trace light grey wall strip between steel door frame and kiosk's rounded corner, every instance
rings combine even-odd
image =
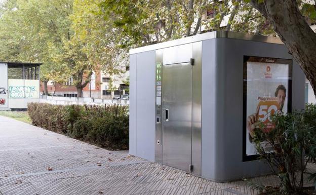
[[[202,42],[202,177],[216,178],[216,39]]]

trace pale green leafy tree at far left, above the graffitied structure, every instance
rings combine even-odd
[[[51,45],[62,46],[69,35],[72,0],[7,0],[0,8],[0,60],[43,62],[41,80],[47,89],[56,64]],[[47,90],[45,90],[47,94]]]

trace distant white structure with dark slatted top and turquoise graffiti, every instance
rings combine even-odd
[[[0,62],[0,110],[25,110],[39,101],[41,63]]]

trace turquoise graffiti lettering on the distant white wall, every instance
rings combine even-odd
[[[35,86],[9,86],[10,98],[33,98],[38,97]]]

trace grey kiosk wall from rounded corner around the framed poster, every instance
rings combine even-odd
[[[292,59],[284,45],[226,38],[203,42],[202,176],[215,181],[269,172],[263,162],[243,162],[244,55]],[[304,77],[296,66],[293,94],[304,90]],[[292,102],[301,107],[304,97],[293,96]]]

